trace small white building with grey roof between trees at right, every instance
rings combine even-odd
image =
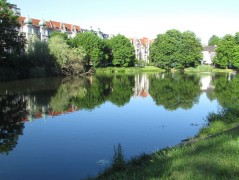
[[[206,46],[203,48],[203,60],[202,64],[212,65],[213,64],[213,58],[216,55],[216,46]]]

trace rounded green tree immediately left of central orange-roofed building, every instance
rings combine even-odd
[[[109,41],[113,53],[113,65],[121,67],[134,66],[135,51],[130,40],[123,35],[117,35]]]

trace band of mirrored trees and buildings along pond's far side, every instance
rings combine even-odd
[[[137,74],[0,83],[0,153],[15,148],[26,121],[93,110],[105,102],[120,107],[137,96],[151,96],[157,106],[168,110],[186,110],[204,92],[223,107],[237,107],[239,78],[235,74]]]

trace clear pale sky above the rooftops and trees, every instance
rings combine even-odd
[[[239,32],[239,0],[7,0],[22,16],[100,28],[109,34],[155,38],[190,30],[202,43]]]

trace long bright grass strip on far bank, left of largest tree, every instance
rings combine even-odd
[[[144,67],[106,67],[106,68],[97,68],[97,74],[110,74],[110,73],[140,73],[140,72],[164,72],[163,69],[160,69],[155,66],[144,66]]]

